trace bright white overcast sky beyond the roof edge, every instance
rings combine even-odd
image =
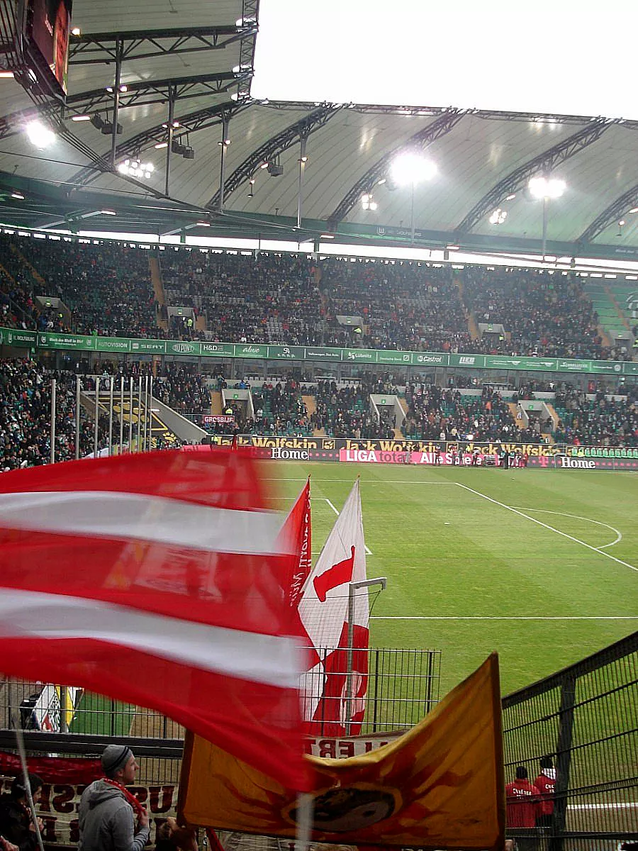
[[[252,94],[638,119],[638,0],[261,0]]]

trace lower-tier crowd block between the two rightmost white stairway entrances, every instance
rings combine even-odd
[[[500,393],[485,385],[481,396],[436,384],[408,384],[406,437],[417,440],[522,441],[539,443],[536,431],[520,431]]]

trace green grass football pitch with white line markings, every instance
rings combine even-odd
[[[638,628],[638,475],[265,466],[283,510],[309,474],[315,553],[361,477],[371,643],[441,649],[441,696],[492,650],[508,694]]]

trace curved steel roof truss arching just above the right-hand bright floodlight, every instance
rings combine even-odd
[[[608,121],[607,118],[595,118],[567,139],[558,142],[533,159],[527,160],[527,163],[515,168],[510,174],[506,174],[471,208],[464,220],[457,226],[456,232],[470,233],[481,219],[498,208],[508,195],[521,191],[530,178],[536,177],[538,174],[550,174],[561,163],[592,145],[601,138],[607,128],[612,126],[612,123],[615,122]]]

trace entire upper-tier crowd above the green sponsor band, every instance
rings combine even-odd
[[[632,353],[602,346],[597,314],[571,273],[197,248],[159,256],[167,304],[186,308],[182,316],[168,317],[155,300],[145,249],[2,235],[3,323],[288,346],[618,360]],[[37,295],[60,298],[70,319],[44,309]],[[199,317],[205,331],[197,330]],[[476,337],[475,322],[504,331]]]

